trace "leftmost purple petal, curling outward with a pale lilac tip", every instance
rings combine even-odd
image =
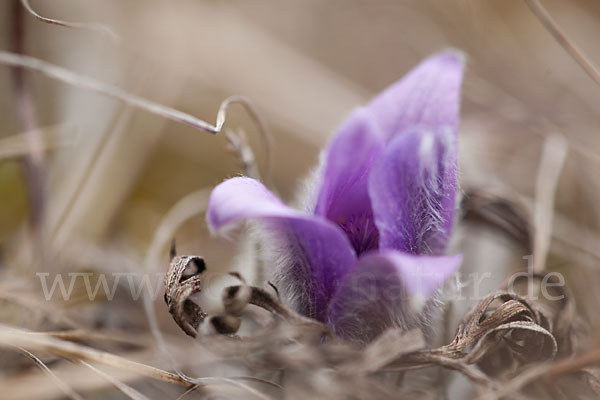
[[[232,178],[213,190],[207,210],[212,230],[248,219],[267,223],[265,245],[279,256],[274,275],[282,282],[280,291],[294,296],[298,311],[323,321],[331,295],[356,261],[344,233],[287,207],[254,179]]]

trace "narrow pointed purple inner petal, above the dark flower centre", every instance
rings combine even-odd
[[[315,214],[338,224],[357,254],[376,249],[378,244],[368,176],[373,161],[382,152],[383,140],[364,108],[352,113],[326,152]]]

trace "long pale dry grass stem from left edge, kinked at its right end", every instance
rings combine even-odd
[[[221,128],[225,123],[225,112],[227,110],[227,107],[232,103],[240,102],[237,96],[231,99],[226,99],[223,102],[221,108],[219,109],[216,125],[211,125],[190,114],[186,114],[174,108],[167,107],[162,104],[158,104],[153,101],[147,100],[145,98],[132,95],[116,86],[112,86],[107,83],[98,81],[96,79],[76,74],[72,71],[69,71],[66,68],[59,67],[57,65],[51,64],[49,62],[34,57],[22,56],[7,51],[0,51],[0,63],[12,67],[27,68],[40,72],[50,78],[83,89],[88,89],[97,93],[101,93],[103,95],[112,97],[114,99],[122,101],[131,106],[137,107],[149,113],[160,115],[172,121],[186,124],[196,129],[200,129],[202,131],[209,132],[212,134],[216,134],[221,131]]]

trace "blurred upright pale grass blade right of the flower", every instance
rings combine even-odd
[[[544,142],[535,185],[533,270],[538,273],[546,266],[546,257],[552,240],[554,198],[560,173],[567,158],[567,150],[567,141],[561,135],[548,136]]]

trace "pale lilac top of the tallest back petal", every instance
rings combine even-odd
[[[463,57],[455,51],[435,54],[369,104],[387,140],[413,126],[458,129]]]

